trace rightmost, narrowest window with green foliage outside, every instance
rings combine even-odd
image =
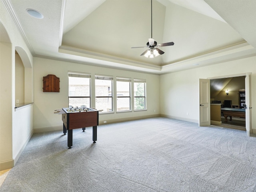
[[[146,80],[134,79],[134,110],[146,109]]]

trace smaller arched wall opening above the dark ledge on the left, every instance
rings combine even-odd
[[[15,51],[15,103],[16,105],[24,103],[24,64],[20,55]]]

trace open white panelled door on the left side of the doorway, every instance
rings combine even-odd
[[[199,79],[199,126],[210,124],[210,79]]]

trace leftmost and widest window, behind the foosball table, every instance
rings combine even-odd
[[[68,106],[90,107],[90,74],[68,73]]]

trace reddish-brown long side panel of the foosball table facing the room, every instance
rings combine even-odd
[[[69,113],[69,129],[98,125],[98,111]]]

